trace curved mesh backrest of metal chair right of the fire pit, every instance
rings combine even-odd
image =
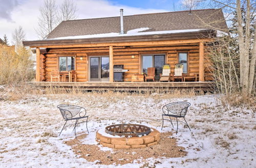
[[[189,106],[189,102],[174,102],[164,105],[162,109],[165,115],[173,113],[175,115],[185,116],[187,114],[187,109]]]

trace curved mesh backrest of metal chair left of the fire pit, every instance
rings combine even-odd
[[[74,117],[84,117],[86,116],[86,109],[76,105],[60,104],[57,105],[60,113],[64,120],[72,119]],[[79,116],[77,116],[79,115]]]

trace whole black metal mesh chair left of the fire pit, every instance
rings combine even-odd
[[[87,128],[88,116],[86,116],[85,108],[79,107],[76,105],[68,105],[68,104],[60,104],[60,105],[57,105],[57,107],[59,108],[63,119],[66,121],[63,128],[61,129],[59,135],[61,134],[62,130],[65,128],[67,121],[69,121],[69,120],[76,120],[74,129],[73,129],[73,131],[75,130],[75,135],[76,135],[76,126],[77,126],[77,124],[80,124],[80,123],[86,122],[86,129],[88,131],[88,128]],[[82,122],[78,123],[78,120],[83,119],[83,118],[86,118],[86,121],[82,121]],[[73,125],[73,124],[70,124],[70,125]],[[67,126],[69,126],[69,125],[67,125]],[[89,133],[89,131],[88,131],[88,133]]]

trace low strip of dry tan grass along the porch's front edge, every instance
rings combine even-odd
[[[113,98],[125,98],[127,96],[133,97],[152,97],[154,99],[165,99],[165,98],[183,98],[201,95],[202,92],[193,89],[148,89],[148,90],[136,90],[136,91],[113,91],[113,90],[97,90],[88,91],[80,87],[46,87],[40,88],[32,86],[26,82],[19,83],[18,85],[8,85],[4,89],[0,89],[2,99],[16,101],[19,99],[26,99],[31,95],[50,95],[50,96],[83,96],[83,97],[103,97],[107,100],[113,100]],[[5,96],[4,96],[5,95]]]

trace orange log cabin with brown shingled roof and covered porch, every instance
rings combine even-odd
[[[221,9],[148,13],[62,21],[44,40],[24,41],[36,48],[38,86],[83,87],[205,87],[211,80],[205,43],[227,25]],[[183,64],[193,81],[159,82],[162,67]],[[115,65],[123,65],[123,82],[114,78]],[[117,66],[118,67],[118,66]],[[155,67],[155,82],[138,77]],[[76,82],[51,81],[51,72],[76,71]],[[137,80],[142,82],[136,82]]]

